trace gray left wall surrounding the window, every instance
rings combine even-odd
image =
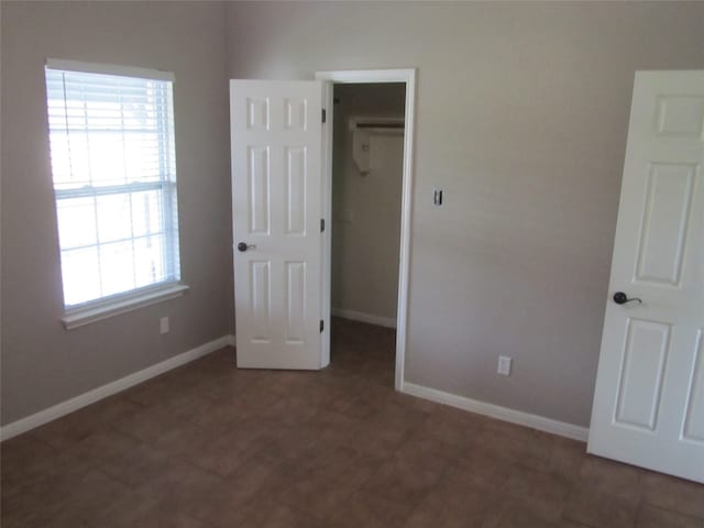
[[[2,424],[232,331],[224,8],[2,2]],[[65,331],[45,57],[174,72],[184,297]],[[170,317],[160,336],[158,318]]]

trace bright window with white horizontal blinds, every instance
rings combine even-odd
[[[178,285],[172,85],[157,70],[47,62],[67,316],[161,300]]]

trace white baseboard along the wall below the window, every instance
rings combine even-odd
[[[74,410],[78,410],[81,407],[95,404],[100,399],[107,398],[108,396],[112,396],[113,394],[120,393],[152,377],[158,376],[160,374],[170,371],[172,369],[185,365],[186,363],[197,360],[198,358],[202,358],[204,355],[208,355],[216,350],[220,350],[223,346],[233,344],[234,336],[223,336],[222,338],[218,338],[213,341],[201,344],[200,346],[196,346],[195,349],[169,358],[168,360],[162,361],[161,363],[147,366],[142,371],[135,372],[114,382],[110,382],[107,385],[94,388],[92,391],[88,391],[87,393],[67,399],[66,402],[62,402],[61,404],[56,404],[47,409],[40,410],[34,415],[21,418],[16,421],[13,421],[12,424],[8,424],[7,426],[2,427],[2,429],[0,429],[0,441],[16,437],[18,435],[22,435],[23,432],[43,426],[44,424],[61,418],[62,416],[68,415]]]

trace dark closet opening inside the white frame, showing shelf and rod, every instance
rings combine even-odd
[[[362,369],[365,377],[389,386],[405,99],[403,82],[333,86],[330,361]]]

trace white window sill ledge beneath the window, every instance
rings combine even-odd
[[[100,306],[94,305],[90,307],[70,310],[62,317],[62,322],[66,330],[73,330],[74,328],[119,316],[120,314],[127,314],[128,311],[136,310],[138,308],[180,297],[187,290],[188,286],[185,284],[169,284],[168,286],[164,286],[156,290],[153,289],[147,293],[136,294],[133,297],[113,300]]]

